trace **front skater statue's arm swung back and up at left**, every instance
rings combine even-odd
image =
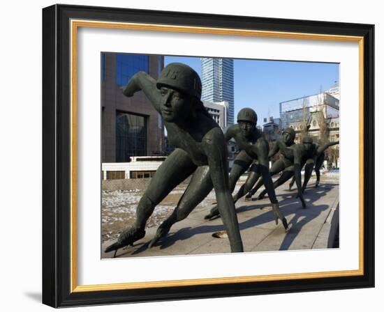
[[[146,72],[135,73],[123,89],[124,95],[128,98],[131,98],[138,91],[143,91],[149,101],[152,102],[154,109],[160,112],[161,93],[156,88],[156,80]]]

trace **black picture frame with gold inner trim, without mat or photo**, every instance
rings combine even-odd
[[[142,283],[77,283],[77,30],[357,42],[359,267]],[[229,40],[229,39],[228,39]],[[97,194],[95,194],[97,196]],[[374,25],[54,5],[43,9],[43,303],[53,307],[374,287]]]

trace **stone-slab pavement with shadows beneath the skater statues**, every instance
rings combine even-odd
[[[237,218],[244,244],[244,251],[276,251],[297,249],[323,249],[333,246],[339,225],[339,185],[320,182],[313,187],[310,180],[304,198],[307,209],[303,209],[295,198],[296,190],[288,191],[288,184],[276,189],[281,212],[286,216],[289,230],[286,232],[279,221],[276,226],[269,199],[236,203]],[[170,229],[156,246],[147,248],[147,243],[156,233],[156,227],[147,228],[142,240],[133,247],[119,249],[117,257],[175,256],[202,253],[230,252],[228,238],[216,238],[212,234],[223,231],[220,218],[204,219],[207,210],[192,212],[189,217]],[[105,247],[114,241],[105,242]],[[102,253],[102,258],[112,258],[113,252]]]

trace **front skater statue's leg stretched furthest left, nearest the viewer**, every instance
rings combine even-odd
[[[189,155],[179,148],[169,155],[163,164],[158,167],[147,190],[136,208],[135,224],[126,228],[119,235],[117,242],[105,249],[105,252],[114,251],[121,247],[133,244],[136,240],[145,236],[145,224],[151,216],[154,208],[174,189],[180,182],[188,178],[196,165],[193,164]]]

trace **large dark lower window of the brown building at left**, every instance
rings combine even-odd
[[[147,122],[144,116],[116,114],[116,162],[129,162],[132,156],[147,155]]]

